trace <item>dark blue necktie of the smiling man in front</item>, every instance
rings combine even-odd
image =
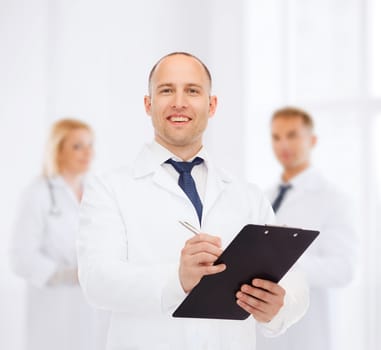
[[[180,174],[178,184],[195,207],[200,224],[202,217],[202,203],[200,196],[197,193],[196,184],[191,175],[191,171],[195,165],[201,164],[203,161],[204,160],[199,157],[196,157],[191,162],[176,162],[173,159],[168,159],[166,161],[166,163],[171,164]]]

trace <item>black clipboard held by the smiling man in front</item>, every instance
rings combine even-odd
[[[246,225],[214,263],[225,271],[204,276],[173,317],[244,320],[249,313],[236,303],[236,292],[253,278],[278,283],[319,235],[300,228]]]

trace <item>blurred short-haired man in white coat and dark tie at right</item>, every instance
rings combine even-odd
[[[269,193],[277,223],[320,231],[319,238],[299,260],[310,285],[310,308],[289,332],[267,339],[264,350],[330,350],[332,337],[329,289],[347,285],[355,263],[355,235],[350,203],[311,166],[317,137],[311,116],[285,107],[273,114],[272,144],[283,167],[280,182]],[[335,150],[332,150],[334,152]]]

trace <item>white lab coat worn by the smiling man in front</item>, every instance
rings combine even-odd
[[[81,208],[79,276],[96,307],[111,310],[109,350],[255,349],[255,321],[176,319],[185,294],[178,278],[180,251],[196,225],[191,202],[145,147],[131,168],[89,181]],[[255,186],[232,179],[206,161],[202,231],[226,246],[247,223],[272,222],[268,201]],[[308,305],[308,287],[296,273],[284,278],[286,304],[264,332],[277,334]]]

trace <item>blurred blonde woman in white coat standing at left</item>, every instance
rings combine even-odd
[[[78,284],[75,249],[83,181],[92,158],[90,126],[74,119],[57,121],[44,174],[21,199],[11,261],[28,285],[28,350],[104,348],[105,327],[99,326],[99,315]]]

